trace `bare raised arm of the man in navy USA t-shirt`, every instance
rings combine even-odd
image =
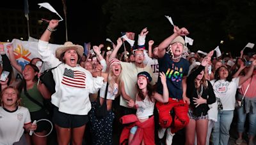
[[[173,39],[177,38],[177,36],[186,36],[188,34],[189,34],[189,32],[186,28],[183,27],[183,28],[179,29],[179,27],[174,26],[173,34],[171,36],[169,36],[168,38],[164,39],[164,41],[159,44],[158,57],[162,58],[164,56],[164,54],[166,53],[165,49],[168,48],[168,46],[171,44]]]

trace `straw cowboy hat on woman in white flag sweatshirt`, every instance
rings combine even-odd
[[[64,43],[63,46],[60,46],[59,48],[56,49],[56,52],[55,52],[56,57],[57,57],[58,59],[61,59],[61,54],[62,54],[63,52],[66,52],[67,50],[70,50],[70,49],[76,50],[77,55],[78,55],[80,58],[83,56],[83,53],[84,53],[84,48],[83,48],[83,46],[81,46],[81,45],[74,45],[72,42],[67,41],[67,42]]]

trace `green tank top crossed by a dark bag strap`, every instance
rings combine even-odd
[[[41,93],[38,91],[37,89],[37,84],[35,83],[35,85],[33,86],[33,88],[28,89],[27,90],[29,95],[37,100],[38,102],[40,102],[40,104],[44,105],[44,98],[41,95]],[[22,92],[20,93],[20,97],[21,97],[21,105],[24,107],[27,107],[29,112],[35,112],[35,111],[39,111],[40,109],[42,109],[42,107],[38,106],[37,104],[35,104],[35,102],[33,102],[32,100],[30,100],[25,94],[24,94],[24,89],[22,89]]]

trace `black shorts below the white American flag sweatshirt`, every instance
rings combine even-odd
[[[53,108],[52,121],[59,127],[62,127],[62,128],[82,127],[88,122],[88,120],[89,119],[87,115],[61,113],[58,107],[54,106]]]

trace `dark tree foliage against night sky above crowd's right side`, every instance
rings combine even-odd
[[[102,10],[111,17],[107,34],[116,39],[120,32],[139,34],[148,27],[147,40],[154,39],[156,45],[173,32],[173,26],[164,17],[172,17],[173,23],[186,27],[193,38],[190,50],[212,50],[221,45],[221,51],[237,52],[248,43],[255,43],[256,3],[253,0],[109,0]]]

